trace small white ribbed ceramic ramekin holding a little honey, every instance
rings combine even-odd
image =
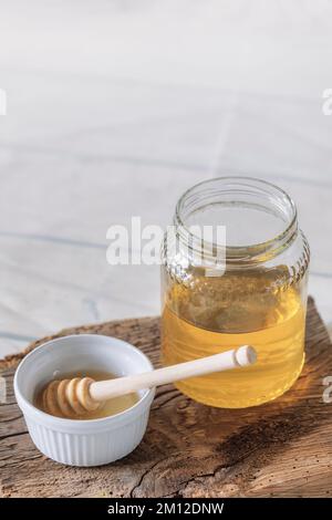
[[[33,405],[35,393],[61,373],[100,370],[122,376],[149,372],[149,360],[129,343],[96,334],[79,334],[50,341],[20,363],[14,393],[37,448],[70,466],[100,466],[128,455],[141,443],[155,389],[138,392],[139,401],[126,410],[91,420],[54,417]]]

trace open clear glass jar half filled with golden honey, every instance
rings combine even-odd
[[[304,363],[309,258],[294,202],[282,189],[224,177],[184,194],[163,247],[163,363],[245,344],[258,360],[178,382],[180,392],[207,405],[242,408],[292,386]]]

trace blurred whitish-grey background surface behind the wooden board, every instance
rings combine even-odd
[[[328,0],[0,0],[0,356],[157,314],[158,269],[107,266],[106,230],[217,175],[292,195],[331,322],[331,25]]]

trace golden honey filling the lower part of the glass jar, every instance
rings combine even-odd
[[[259,405],[283,394],[304,362],[305,308],[301,282],[289,285],[284,269],[191,277],[189,287],[165,273],[163,361],[176,364],[252,345],[255,366],[176,383],[194,399],[218,407]]]

